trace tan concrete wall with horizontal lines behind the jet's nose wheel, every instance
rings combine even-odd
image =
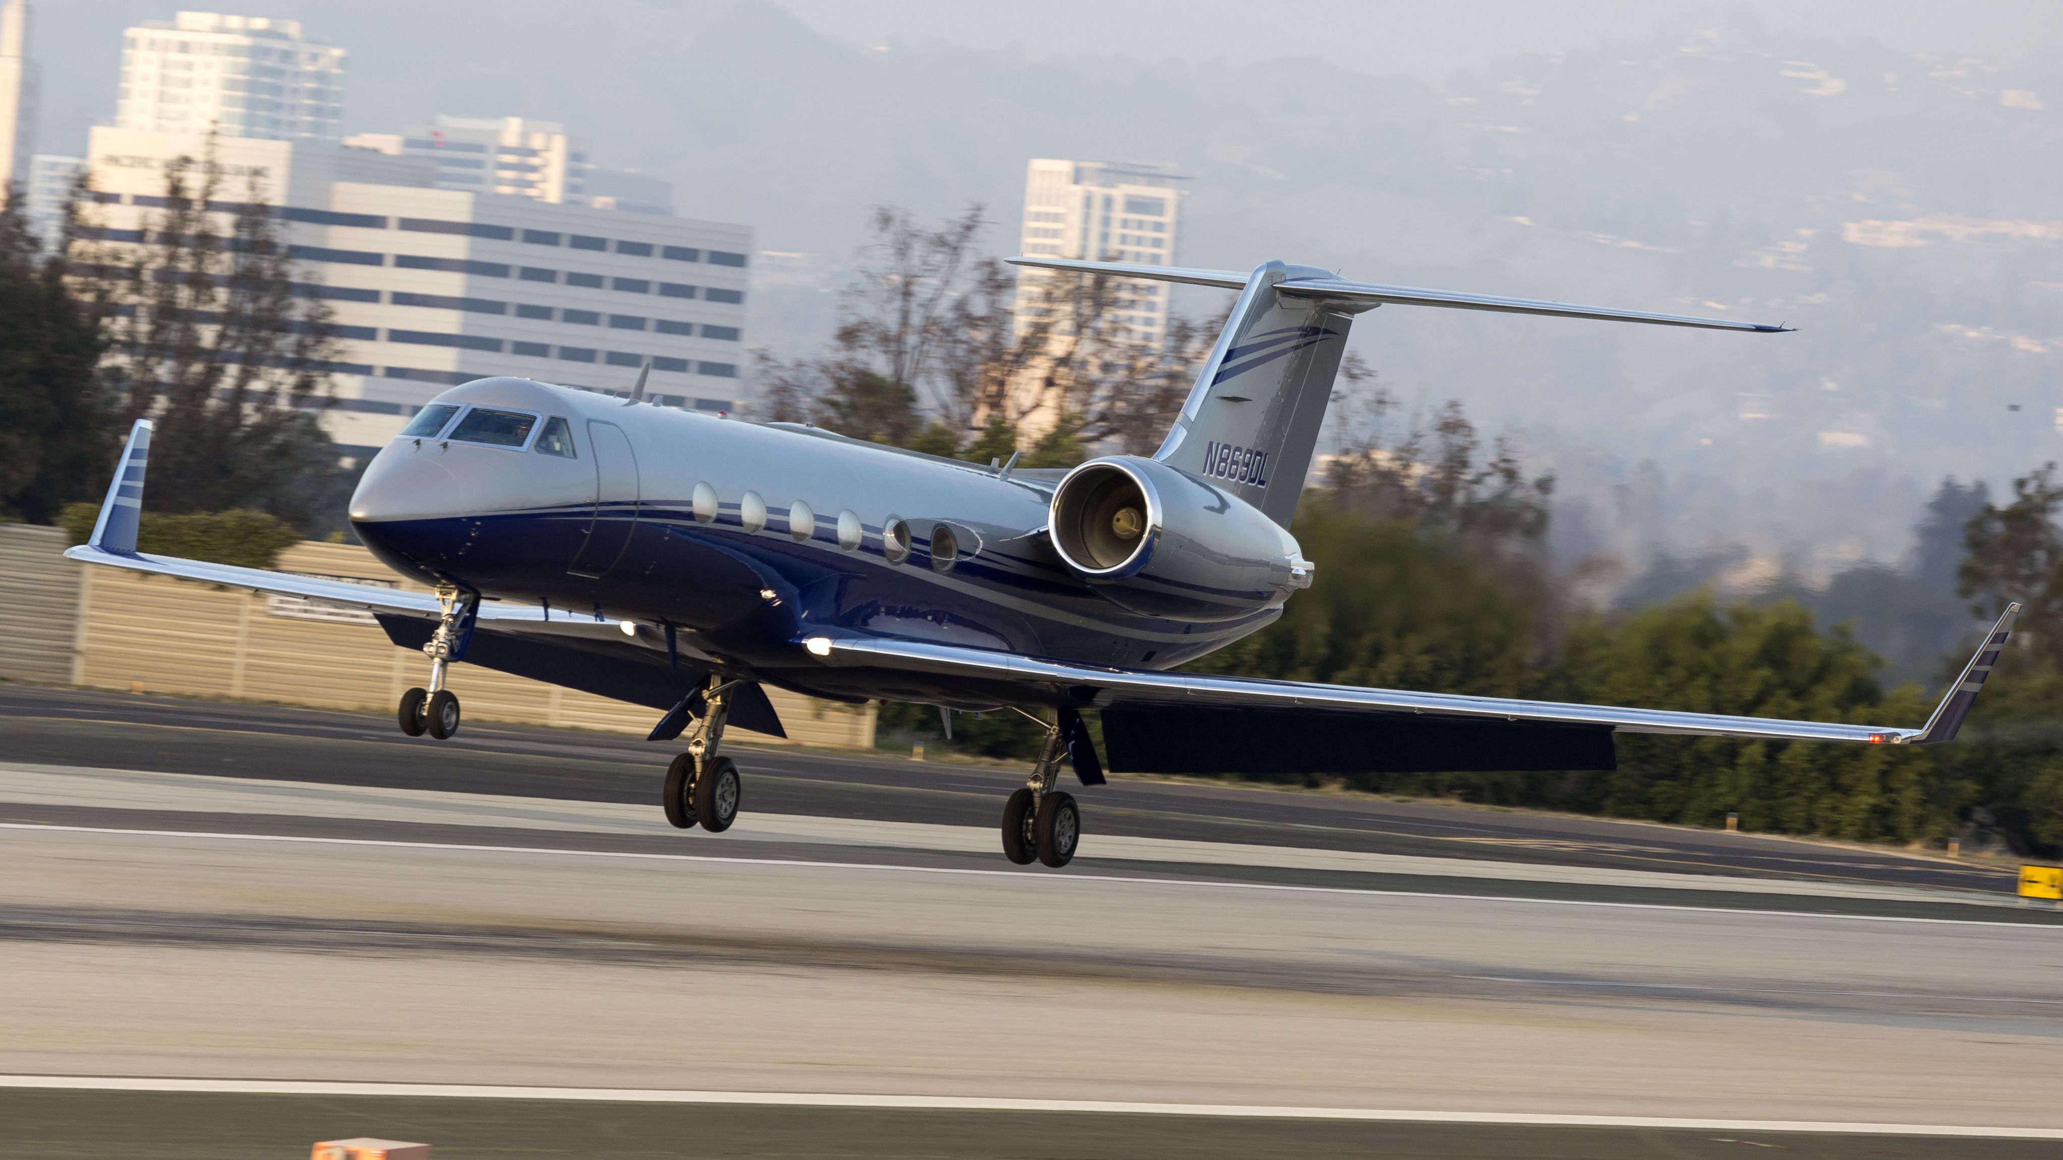
[[[367,613],[80,568],[58,555],[62,549],[64,533],[56,528],[0,526],[0,675],[375,712],[392,712],[402,689],[429,679],[429,660],[388,644]],[[415,588],[357,545],[301,543],[279,566]],[[456,665],[450,683],[468,720],[650,733],[660,716],[472,665]],[[792,741],[856,749],[875,743],[875,706],[774,687],[767,696]],[[739,737],[772,741],[745,731]]]

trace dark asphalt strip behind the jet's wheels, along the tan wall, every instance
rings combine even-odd
[[[1025,770],[736,743],[747,811],[994,826]],[[14,762],[650,803],[675,747],[567,729],[466,722],[411,739],[386,716],[0,685],[0,753]],[[1236,842],[1430,859],[1881,883],[2011,894],[2009,869],[1762,834],[1727,834],[1370,795],[1114,778],[1077,791],[1083,857],[1098,836]],[[120,799],[105,807],[120,809]]]

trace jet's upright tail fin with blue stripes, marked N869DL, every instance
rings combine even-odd
[[[1168,440],[1153,458],[1205,475],[1289,526],[1347,328],[1362,303],[1283,295],[1287,279],[1331,270],[1269,262],[1254,268]]]

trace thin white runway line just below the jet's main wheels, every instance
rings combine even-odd
[[[1060,873],[1046,875],[1034,871],[1003,871],[1003,869],[974,869],[974,867],[912,867],[893,863],[836,863],[836,861],[811,861],[811,859],[739,859],[724,855],[652,855],[640,850],[563,850],[551,846],[487,846],[487,844],[466,844],[466,842],[400,842],[388,838],[322,838],[305,834],[223,834],[208,830],[126,830],[111,826],[45,826],[35,821],[0,821],[0,830],[41,830],[54,834],[122,834],[132,838],[198,838],[215,842],[303,842],[320,846],[384,846],[402,850],[464,850],[483,855],[538,855],[555,859],[625,859],[625,861],[666,861],[666,863],[718,863],[718,865],[749,865],[749,867],[805,867],[805,869],[850,869],[850,871],[881,871],[881,873],[932,873],[932,875],[972,875],[972,877],[1009,877],[1015,881],[1038,881],[1038,883],[1128,883],[1128,885],[1174,885],[1192,890],[1275,890],[1285,894],[1362,894],[1380,898],[1446,898],[1446,900],[1471,900],[1471,902],[1510,902],[1525,906],[1603,906],[1613,910],[1688,910],[1704,914],[1749,914],[1762,919],[1842,919],[1851,923],[1927,923],[1941,927],[1993,927],[1993,929],[2022,929],[2022,931],[2063,931],[2063,925],[2051,923],[2003,923],[1989,919],[1921,919],[1908,914],[1840,914],[1822,910],[1749,910],[1735,906],[1683,906],[1673,902],[1603,902],[1589,898],[1522,898],[1510,894],[1442,894],[1436,890],[1376,890],[1376,888],[1355,888],[1355,885],[1294,885],[1275,881],[1203,881],[1184,877],[1139,877],[1139,875],[1108,875],[1108,873]]]

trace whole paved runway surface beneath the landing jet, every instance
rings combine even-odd
[[[4,698],[10,1156],[153,1131],[223,1156],[411,1131],[460,1156],[2036,1156],[2059,1143],[2013,1135],[2063,1129],[2057,912],[1925,859],[1116,786],[1054,873],[992,852],[1007,772],[753,753],[759,811],[708,836],[656,817],[635,743]],[[239,768],[194,772],[210,749]],[[1246,803],[1296,821],[1219,821]],[[1512,832],[1541,844],[1485,840]]]

